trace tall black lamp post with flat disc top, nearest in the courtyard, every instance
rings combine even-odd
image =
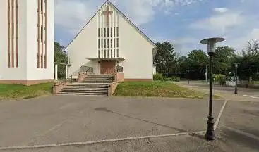
[[[219,37],[212,37],[209,39],[203,39],[200,41],[201,44],[207,44],[207,53],[210,56],[210,100],[209,100],[209,115],[207,117],[207,131],[205,134],[205,138],[209,141],[215,140],[215,132],[214,132],[214,121],[212,117],[212,72],[213,72],[213,66],[212,66],[212,59],[215,55],[215,47],[217,42],[224,41],[224,38]]]

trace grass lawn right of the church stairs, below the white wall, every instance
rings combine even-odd
[[[180,87],[171,82],[123,82],[114,92],[115,96],[158,96],[203,99],[205,94]]]

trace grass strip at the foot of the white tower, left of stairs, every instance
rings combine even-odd
[[[0,99],[30,99],[37,96],[52,94],[53,83],[32,86],[0,84]]]

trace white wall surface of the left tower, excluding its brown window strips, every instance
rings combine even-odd
[[[7,1],[0,1],[0,80],[54,77],[54,1],[48,0],[47,69],[37,68],[37,1],[18,0],[18,68],[8,68]]]

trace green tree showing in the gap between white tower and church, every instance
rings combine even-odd
[[[68,56],[63,51],[64,46],[61,46],[59,42],[54,42],[54,62],[56,63],[68,63]],[[58,67],[59,78],[66,77],[65,65],[59,65]]]

